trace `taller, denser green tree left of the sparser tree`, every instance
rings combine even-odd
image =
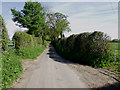
[[[44,8],[39,2],[25,2],[23,10],[11,9],[13,21],[20,27],[28,28],[28,34],[39,36],[38,30],[45,26]]]

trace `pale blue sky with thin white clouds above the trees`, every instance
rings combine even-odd
[[[20,0],[4,0],[0,4],[0,12],[4,18],[10,39],[16,31],[26,30],[25,28],[19,28],[12,21],[13,16],[10,9],[16,8],[20,11],[24,7],[24,1],[28,0],[18,1]],[[57,0],[49,0],[48,2],[48,0],[44,0],[44,2],[41,1],[41,4],[52,12],[61,12],[68,16],[71,32],[65,32],[67,37],[82,32],[102,31],[109,35],[111,39],[118,38],[118,2],[115,0],[101,1],[66,0],[63,2],[61,0],[61,2],[58,2]]]

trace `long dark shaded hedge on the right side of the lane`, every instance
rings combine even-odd
[[[94,67],[106,67],[114,60],[109,39],[103,32],[95,31],[71,35],[55,40],[52,44],[66,59]]]

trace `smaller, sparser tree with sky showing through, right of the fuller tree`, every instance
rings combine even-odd
[[[63,32],[71,31],[69,27],[70,23],[67,20],[67,16],[59,12],[54,14],[47,14],[47,24],[51,33],[51,39],[53,40],[58,38],[60,35],[62,38],[62,36],[64,36]]]

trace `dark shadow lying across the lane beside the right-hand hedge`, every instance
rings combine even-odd
[[[49,55],[49,57],[52,58],[54,61],[57,61],[60,63],[73,63],[71,61],[67,61],[67,60],[63,59],[62,57],[60,57],[51,44],[49,45],[49,53],[47,53],[47,55]],[[74,64],[76,64],[76,63],[74,63]]]

